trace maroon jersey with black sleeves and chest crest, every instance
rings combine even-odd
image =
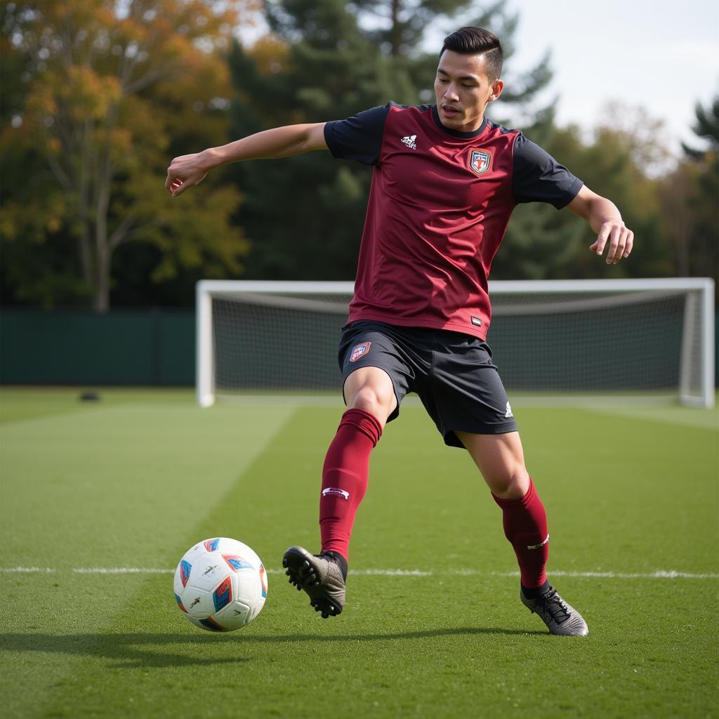
[[[487,119],[441,124],[436,106],[394,103],[326,123],[334,157],[374,165],[349,321],[485,339],[490,265],[518,203],[557,209],[582,187],[518,132]]]

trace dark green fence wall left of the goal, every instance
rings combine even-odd
[[[195,383],[192,310],[0,313],[0,383]]]

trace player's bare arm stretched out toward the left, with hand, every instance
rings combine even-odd
[[[170,162],[165,188],[173,197],[198,185],[207,173],[220,165],[240,160],[271,160],[301,155],[311,150],[326,150],[324,122],[287,125],[243,137],[223,147],[209,147],[193,155],[181,155]]]

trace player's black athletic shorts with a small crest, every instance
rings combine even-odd
[[[379,367],[392,380],[397,418],[408,392],[422,400],[449,446],[464,446],[455,431],[503,434],[517,429],[492,350],[460,332],[359,320],[339,342],[342,383],[360,367]]]

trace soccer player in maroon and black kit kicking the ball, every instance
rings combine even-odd
[[[618,209],[521,132],[485,118],[500,97],[503,51],[493,33],[448,35],[434,79],[436,104],[385,106],[349,119],[278,127],[224,147],[175,157],[165,187],[179,196],[226,162],[330,150],[372,165],[354,298],[340,357],[347,411],[324,461],[321,552],[290,547],[290,582],[324,618],[345,603],[349,539],[367,489],[372,449],[415,392],[449,446],[470,453],[503,515],[520,569],[520,598],[549,631],[587,624],[546,577],[544,505],[492,352],[487,277],[518,203],[568,207],[597,233],[590,249],[615,264],[633,233]]]

